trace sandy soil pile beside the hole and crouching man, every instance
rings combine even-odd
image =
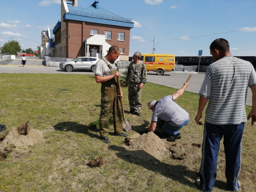
[[[130,146],[124,146],[128,150],[127,155],[134,159],[161,161],[170,156],[169,150],[164,143],[153,132],[144,133],[139,138],[132,140]]]

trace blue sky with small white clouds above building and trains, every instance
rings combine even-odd
[[[41,30],[53,28],[60,19],[60,2],[1,0],[0,44],[13,39],[22,49],[36,50],[41,45]],[[93,2],[78,0],[78,7]],[[256,0],[99,0],[99,7],[135,22],[131,55],[152,53],[153,34],[157,34],[155,53],[197,56],[203,50],[203,56],[210,56],[212,41],[225,38],[232,55],[256,56]]]

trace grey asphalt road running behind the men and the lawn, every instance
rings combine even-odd
[[[120,69],[121,72],[124,69]],[[54,74],[90,74],[94,73],[90,71],[72,71],[66,72],[60,68],[54,67],[35,67],[35,66],[8,66],[0,65],[0,73],[54,73]],[[158,76],[156,72],[148,72],[147,81],[151,83],[161,84],[168,87],[181,88],[183,83],[188,79],[188,76],[192,74],[189,80],[189,85],[186,91],[198,93],[204,80],[204,74],[196,72],[165,72],[164,75]],[[198,102],[198,101],[196,101]],[[249,88],[247,92],[246,105],[252,106],[252,91]]]

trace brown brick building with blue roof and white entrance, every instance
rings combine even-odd
[[[108,48],[120,48],[120,60],[128,60],[131,19],[125,19],[98,7],[77,7],[78,0],[61,0],[61,21],[53,29],[55,47],[53,57],[102,57]],[[71,6],[72,4],[72,6]]]

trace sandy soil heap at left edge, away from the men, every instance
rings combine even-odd
[[[16,128],[13,128],[8,135],[0,142],[0,149],[4,149],[9,144],[13,144],[16,147],[27,147],[29,145],[35,145],[37,142],[44,140],[43,132],[30,129],[28,134],[19,134]]]

